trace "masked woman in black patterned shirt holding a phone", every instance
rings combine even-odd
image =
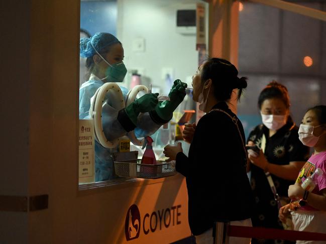
[[[287,200],[287,189],[292,184],[309,154],[298,138],[298,128],[290,117],[290,99],[285,86],[273,81],[258,98],[263,124],[250,133],[248,145],[260,151],[248,150],[251,185],[256,200],[253,225],[266,228],[283,228],[278,219],[279,204],[275,193]],[[272,192],[266,177],[270,173],[276,192]],[[252,243],[276,243],[278,240],[257,240]],[[280,243],[281,240],[279,240]],[[277,242],[278,243],[278,242]],[[284,242],[283,242],[284,243]],[[291,242],[285,242],[291,243]]]

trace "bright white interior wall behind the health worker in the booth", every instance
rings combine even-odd
[[[201,1],[118,0],[117,36],[124,46],[127,69],[138,69],[162,92],[170,89],[162,69],[173,68],[173,80],[192,76],[198,67],[196,36],[176,32],[176,11],[195,9],[197,2]],[[136,38],[145,40],[144,52],[133,51]]]

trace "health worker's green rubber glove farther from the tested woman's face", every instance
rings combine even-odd
[[[158,103],[157,96],[158,93],[145,94],[125,108],[126,114],[134,125],[137,125],[137,117],[140,112],[150,112],[156,107]]]

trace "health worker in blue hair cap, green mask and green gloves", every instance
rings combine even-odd
[[[107,82],[122,82],[126,76],[124,49],[114,35],[95,33],[91,38],[80,39],[80,56],[87,58],[86,68],[90,77],[79,90],[79,119],[90,119],[89,109],[97,89]],[[186,86],[176,80],[169,93],[170,101],[158,102],[158,93],[148,93],[120,110],[115,108],[115,104],[121,101],[107,93],[101,114],[105,139],[114,141],[130,131],[134,131],[137,138],[153,134],[172,118],[173,111],[183,101]],[[120,89],[126,102],[128,89]],[[96,181],[113,178],[113,153],[118,151],[118,147],[107,148],[95,140]]]

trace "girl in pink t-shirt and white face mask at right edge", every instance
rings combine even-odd
[[[290,209],[294,230],[326,233],[326,106],[308,109],[299,128],[299,139],[303,145],[313,147],[314,152],[300,170],[295,184],[289,186],[288,195],[294,201],[279,210],[279,217],[284,222]],[[317,168],[323,174],[314,178],[315,188],[309,192],[301,184]],[[297,240],[296,243],[326,241]]]

